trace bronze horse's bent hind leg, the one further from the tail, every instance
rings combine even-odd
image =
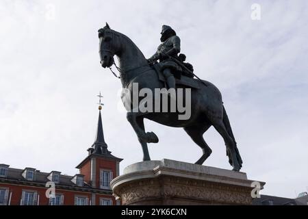
[[[203,126],[196,125],[184,128],[184,130],[188,133],[188,136],[190,136],[190,138],[192,138],[192,140],[196,144],[198,144],[198,146],[200,146],[203,151],[203,155],[200,157],[200,159],[198,159],[198,161],[195,164],[202,165],[203,162],[205,162],[205,160],[207,159],[207,157],[211,155],[211,149],[209,148],[209,146],[207,145],[207,143],[203,138],[203,133],[205,133],[205,131],[207,131],[209,127],[211,127],[211,125],[203,125]]]

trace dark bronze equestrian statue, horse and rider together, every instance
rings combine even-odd
[[[233,170],[240,171],[242,158],[235,142],[227,112],[222,103],[220,91],[209,81],[201,80],[194,74],[192,65],[185,62],[185,55],[181,54],[181,40],[172,27],[163,25],[161,42],[156,53],[146,59],[140,49],[124,34],[110,29],[106,23],[105,27],[99,29],[99,55],[101,66],[110,68],[115,65],[120,72],[120,80],[123,90],[121,99],[127,108],[127,120],[133,127],[138,140],[142,146],[143,160],[151,160],[147,143],[157,143],[158,138],[153,132],[146,132],[144,129],[144,118],[153,120],[156,123],[170,127],[183,127],[192,140],[201,147],[203,155],[196,164],[202,165],[211,155],[211,149],[203,139],[203,133],[213,126],[224,140],[229,164]],[[179,54],[180,53],[180,54]],[[118,58],[118,66],[114,62],[114,55]],[[158,62],[159,61],[159,62]],[[114,72],[112,72],[114,73]],[[115,73],[114,73],[115,75]],[[196,78],[194,78],[196,77]],[[191,95],[182,95],[185,102],[190,98],[191,115],[188,119],[179,119],[179,110],[166,112],[148,110],[143,112],[133,108],[131,100],[136,99],[136,84],[140,90],[150,90],[153,94],[157,89],[191,89]],[[135,87],[134,87],[135,86]],[[168,101],[172,98],[168,92]],[[157,103],[157,97],[153,103]],[[163,99],[159,98],[159,103]],[[142,103],[142,96],[137,96],[138,103]],[[177,101],[179,101],[177,99]],[[160,107],[163,107],[162,105]],[[134,109],[134,110],[131,110]]]

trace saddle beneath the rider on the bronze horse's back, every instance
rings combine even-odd
[[[159,81],[164,82],[165,86],[166,86],[166,78],[162,74],[162,70],[166,68],[166,66],[168,66],[168,68],[172,67],[172,74],[175,75],[176,85],[181,84],[189,88],[200,89],[199,82],[192,77],[186,76],[185,73],[183,73],[183,70],[181,67],[176,66],[176,64],[174,64],[174,66],[170,66],[170,65],[172,65],[170,62],[166,62],[166,63],[159,62],[159,63],[153,64],[153,68],[155,69],[155,72],[157,73]]]

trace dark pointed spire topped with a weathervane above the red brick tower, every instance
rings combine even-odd
[[[107,149],[107,144],[105,143],[104,139],[104,132],[103,132],[103,123],[101,122],[101,109],[103,103],[101,103],[101,92],[99,92],[99,122],[97,123],[97,136],[95,137],[94,143],[92,147],[88,149],[89,155],[96,154],[96,155],[108,155],[110,151]]]

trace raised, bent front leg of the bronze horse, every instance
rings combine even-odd
[[[144,129],[142,129],[140,125],[137,123],[137,118],[140,118],[144,115],[145,113],[141,113],[141,112],[127,112],[126,117],[129,123],[131,123],[131,127],[133,127],[133,130],[135,130],[139,141],[147,142],[147,143],[157,143],[158,138],[155,135],[155,133],[153,133],[152,131],[145,133]],[[143,123],[143,120],[142,120],[142,123]]]

